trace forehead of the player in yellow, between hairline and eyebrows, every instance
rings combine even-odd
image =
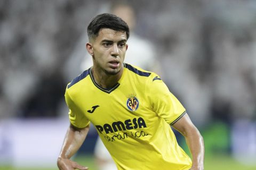
[[[95,40],[127,40],[126,32],[125,31],[115,31],[109,28],[102,28],[100,29],[98,36],[95,38]]]

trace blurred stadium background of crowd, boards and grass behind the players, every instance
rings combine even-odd
[[[0,0],[0,169],[57,169],[66,85],[90,67],[87,24],[117,3],[133,10],[127,23],[139,45],[129,39],[127,53],[147,49],[145,60],[129,54],[126,62],[153,61],[144,68],[162,77],[204,137],[205,169],[255,169],[254,0]],[[97,169],[91,127],[74,159]]]

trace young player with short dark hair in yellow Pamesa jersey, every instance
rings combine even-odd
[[[157,74],[123,63],[127,24],[116,15],[100,14],[87,32],[93,66],[66,89],[70,126],[59,169],[88,169],[69,158],[81,147],[90,122],[118,169],[204,169],[203,139],[185,108]],[[170,125],[186,138],[192,162]]]

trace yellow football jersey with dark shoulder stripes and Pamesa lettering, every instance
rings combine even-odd
[[[170,126],[186,110],[157,74],[124,64],[121,79],[104,89],[89,69],[68,84],[65,99],[71,124],[91,122],[118,169],[191,167]]]

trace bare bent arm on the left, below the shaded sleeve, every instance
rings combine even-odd
[[[81,166],[76,162],[70,160],[70,158],[77,152],[77,150],[83,144],[85,137],[89,131],[89,125],[83,129],[78,129],[75,126],[71,125],[68,128],[66,137],[63,142],[63,146],[58,158],[57,165],[61,170],[73,170],[81,169],[86,170],[87,167]]]

